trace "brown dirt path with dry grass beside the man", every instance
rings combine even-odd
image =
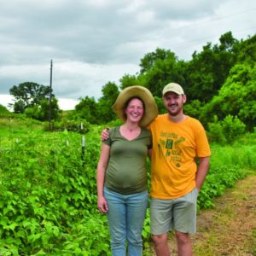
[[[194,255],[256,256],[256,176],[237,182],[214,205],[198,213],[197,233],[191,236]],[[172,256],[177,255],[172,234],[169,241]]]

